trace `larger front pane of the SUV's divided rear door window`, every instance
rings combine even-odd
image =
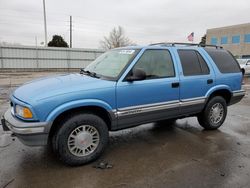
[[[198,56],[194,50],[178,50],[184,76],[202,74]]]

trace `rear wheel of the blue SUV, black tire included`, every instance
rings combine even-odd
[[[218,115],[218,113],[214,111],[216,110],[215,109],[216,107],[220,110],[218,111],[220,115]],[[218,117],[214,118],[214,116],[212,116],[213,112],[214,114],[217,114]],[[202,111],[201,114],[198,115],[197,118],[198,118],[199,124],[204,129],[214,130],[214,129],[218,129],[224,123],[226,116],[227,116],[227,103],[225,99],[221,96],[215,96],[208,101],[204,110]]]

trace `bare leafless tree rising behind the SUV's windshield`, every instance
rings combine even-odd
[[[109,36],[104,37],[103,40],[100,41],[100,44],[101,47],[106,50],[134,45],[134,43],[125,36],[124,29],[121,26],[118,26],[118,28],[113,28],[109,33]]]

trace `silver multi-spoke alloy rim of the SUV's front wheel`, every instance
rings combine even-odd
[[[68,149],[77,157],[88,156],[99,145],[100,135],[97,129],[91,125],[76,127],[68,137]]]

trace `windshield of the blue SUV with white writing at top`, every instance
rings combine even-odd
[[[115,79],[124,67],[136,56],[139,50],[111,50],[90,63],[84,70],[96,73],[99,77]]]

